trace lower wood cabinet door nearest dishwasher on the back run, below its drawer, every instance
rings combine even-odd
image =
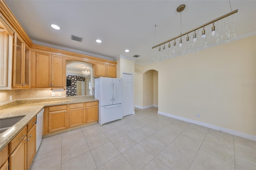
[[[49,132],[67,128],[67,110],[49,112]]]

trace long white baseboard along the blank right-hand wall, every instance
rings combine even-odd
[[[189,122],[189,123],[194,123],[196,125],[201,125],[201,126],[204,126],[204,127],[212,128],[212,129],[215,129],[215,130],[219,130],[219,131],[222,131],[222,132],[226,132],[226,133],[229,133],[229,134],[240,136],[242,138],[246,138],[246,139],[256,141],[256,136],[254,136],[252,134],[247,134],[247,133],[244,133],[244,132],[238,132],[236,130],[223,128],[223,127],[219,127],[219,126],[216,126],[216,125],[211,125],[211,124],[208,124],[208,123],[203,123],[203,122],[200,122],[200,121],[195,121],[193,119],[188,119],[188,118],[185,118],[185,117],[180,117],[180,116],[172,115],[170,113],[164,113],[164,112],[161,112],[161,111],[158,111],[157,113],[160,114],[160,115],[172,117],[174,119],[179,119],[179,120],[186,121],[186,122]]]

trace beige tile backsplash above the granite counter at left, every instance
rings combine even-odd
[[[52,93],[55,93],[55,97],[52,97]],[[62,93],[62,97],[66,97],[66,90],[52,92],[50,88],[0,90],[0,105],[17,100],[60,98],[58,97],[59,93]],[[11,101],[10,96],[12,96]]]

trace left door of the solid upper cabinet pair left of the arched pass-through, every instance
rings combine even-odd
[[[51,55],[36,53],[36,87],[51,87]]]

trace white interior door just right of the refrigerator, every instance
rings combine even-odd
[[[123,116],[132,115],[133,103],[132,103],[132,93],[133,93],[133,82],[132,74],[123,73]]]

